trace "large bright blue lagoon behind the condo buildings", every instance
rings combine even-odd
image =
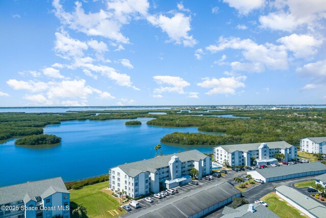
[[[196,127],[147,126],[150,119],[137,118],[141,126],[125,126],[131,119],[73,120],[49,125],[44,133],[62,137],[62,143],[46,149],[14,146],[16,139],[0,142],[0,186],[58,176],[72,181],[106,174],[111,166],[154,157],[154,146],[166,134],[198,132]],[[163,154],[192,149],[212,153],[212,147],[161,144]]]

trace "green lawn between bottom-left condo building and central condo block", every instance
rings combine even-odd
[[[78,190],[70,190],[70,201],[76,204],[83,203],[87,208],[87,216],[94,218],[117,217],[124,213],[120,212],[118,207],[119,199],[110,195],[110,191],[105,190],[108,182],[101,182],[94,185],[88,185]],[[117,215],[115,211],[119,213]],[[108,212],[108,211],[111,211]],[[113,214],[116,214],[115,216]]]

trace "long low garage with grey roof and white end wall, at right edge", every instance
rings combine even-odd
[[[284,179],[293,179],[298,177],[313,176],[326,173],[326,165],[320,162],[300,163],[288,166],[268,167],[266,169],[257,169],[248,171],[247,174],[255,179],[261,179],[264,182],[273,182]]]

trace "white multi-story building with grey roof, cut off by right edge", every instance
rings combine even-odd
[[[309,137],[300,139],[300,151],[326,154],[326,137]]]

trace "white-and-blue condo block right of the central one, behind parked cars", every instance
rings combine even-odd
[[[251,165],[251,158],[255,158],[258,165],[277,163],[275,154],[282,153],[285,161],[296,159],[295,146],[286,141],[272,141],[264,143],[231,144],[214,148],[214,160],[220,164],[226,162],[231,166]]]

